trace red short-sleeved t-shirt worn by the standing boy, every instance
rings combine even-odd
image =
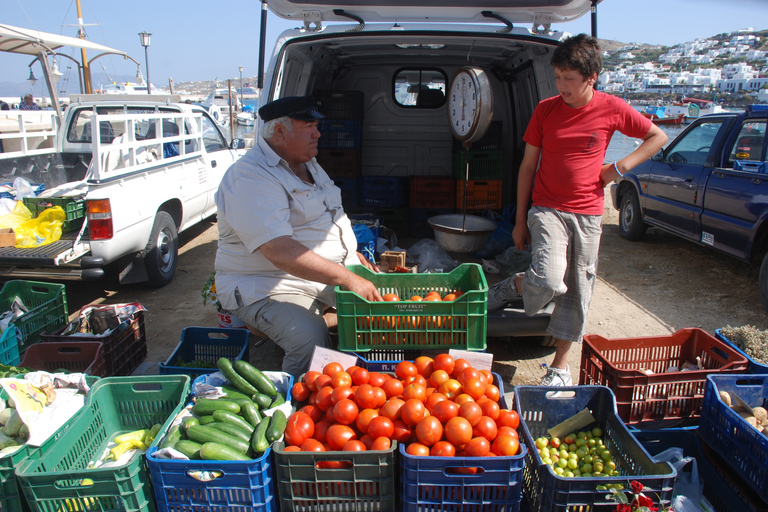
[[[533,204],[583,215],[603,214],[600,169],[615,131],[642,138],[651,121],[622,99],[595,91],[580,108],[553,96],[539,102],[523,140],[541,148]]]

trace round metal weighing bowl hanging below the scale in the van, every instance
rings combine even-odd
[[[450,213],[430,217],[427,222],[435,231],[435,242],[448,252],[476,252],[485,246],[496,230],[496,223],[485,217]],[[464,230],[462,231],[462,225]]]

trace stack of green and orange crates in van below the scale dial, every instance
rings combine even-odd
[[[456,178],[456,208],[467,210],[500,209],[502,206],[502,124],[491,121],[483,137],[465,149],[458,141],[453,146],[453,176]],[[467,176],[469,164],[469,176]]]

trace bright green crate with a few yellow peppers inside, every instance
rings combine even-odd
[[[94,384],[85,407],[54,445],[16,468],[30,509],[154,512],[143,453],[107,468],[89,467],[116,435],[155,423],[166,430],[186,403],[189,388],[186,375],[107,377]],[[83,484],[84,479],[92,483]]]

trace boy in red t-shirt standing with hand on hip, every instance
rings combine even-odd
[[[547,332],[557,339],[557,349],[540,384],[570,386],[568,351],[584,335],[605,186],[654,155],[667,136],[620,98],[594,89],[603,64],[594,37],[565,40],[550,63],[560,94],[538,104],[523,137],[512,232],[515,247],[530,248],[531,267],[493,286],[488,310],[522,295],[526,314],[533,315],[554,298]],[[604,163],[616,131],[643,143],[621,160]]]

